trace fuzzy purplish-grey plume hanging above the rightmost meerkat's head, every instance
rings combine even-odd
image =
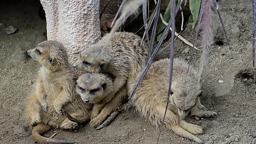
[[[204,25],[203,25],[203,53],[201,56],[200,62],[200,70],[199,75],[200,78],[198,80],[199,85],[202,84],[202,77],[207,68],[207,56],[211,52],[211,40],[212,40],[212,7],[214,6],[213,0],[205,0],[204,3]]]

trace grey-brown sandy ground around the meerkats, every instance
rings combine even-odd
[[[254,144],[256,142],[256,97],[253,91],[252,72],[252,2],[251,0],[230,0],[234,11],[225,2],[220,2],[230,51],[224,33],[214,13],[214,39],[208,58],[208,70],[203,83],[202,103],[218,113],[214,118],[188,122],[202,126],[204,134],[197,135],[206,144]],[[38,15],[39,1],[0,2],[0,144],[33,144],[31,127],[24,117],[26,101],[31,92],[31,80],[39,64],[26,57],[24,52],[46,40],[46,22]],[[117,6],[116,6],[117,7]],[[14,26],[18,32],[6,35],[4,28]],[[201,31],[201,30],[200,30]],[[194,30],[189,24],[181,34],[193,42]],[[202,38],[200,33],[199,39]],[[222,40],[223,46],[215,44]],[[166,42],[164,46],[167,46]],[[200,40],[197,46],[201,46]],[[169,49],[169,47],[168,47]],[[158,55],[158,59],[169,57],[170,50]],[[198,67],[200,50],[195,50],[194,66]],[[175,56],[189,58],[191,47],[177,39]],[[246,71],[246,69],[249,69]],[[223,80],[223,83],[219,83]],[[128,119],[123,114],[109,126],[95,130],[85,125],[78,132],[51,130],[44,136],[65,140],[76,140],[79,144],[152,144],[156,143],[158,130],[131,109]],[[196,144],[191,140],[163,130],[160,144]],[[255,137],[255,138],[254,138]]]

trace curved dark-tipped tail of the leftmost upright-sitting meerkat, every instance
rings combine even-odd
[[[37,141],[39,144],[76,144],[75,141],[68,141],[68,140],[55,140],[51,138],[46,138],[41,136],[44,132],[47,132],[52,127],[47,124],[39,123],[35,126],[32,130],[32,138]]]

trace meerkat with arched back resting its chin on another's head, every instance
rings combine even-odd
[[[113,91],[109,96],[113,99],[108,103],[112,103],[110,107],[112,109],[107,111],[109,113],[119,109],[123,101],[128,99],[128,93],[123,94],[123,92],[128,92],[128,84],[146,65],[148,48],[144,43],[140,46],[141,38],[133,33],[116,32],[110,44],[105,47],[107,38],[108,35],[83,50],[81,59],[74,65],[77,70],[84,72],[106,72],[114,76]],[[123,88],[125,90],[122,90]],[[118,97],[115,98],[116,96]],[[101,123],[102,118],[93,120],[96,123],[94,126]]]

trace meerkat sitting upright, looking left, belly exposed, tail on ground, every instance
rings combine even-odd
[[[30,125],[35,126],[32,137],[45,144],[74,144],[73,141],[54,140],[40,135],[50,128],[73,130],[78,128],[78,123],[90,120],[92,106],[84,103],[75,91],[77,76],[68,62],[64,46],[56,41],[44,41],[28,50],[28,55],[42,65],[26,110]],[[63,116],[62,108],[78,123]]]

